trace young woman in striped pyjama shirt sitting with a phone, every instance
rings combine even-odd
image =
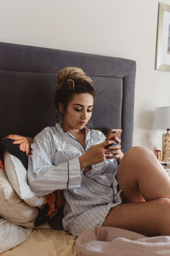
[[[31,189],[39,196],[65,189],[63,226],[74,236],[97,225],[170,235],[170,179],[156,156],[141,147],[123,155],[119,138],[108,148],[112,140],[88,129],[95,92],[82,69],[64,68],[57,82],[61,121],[31,144]]]

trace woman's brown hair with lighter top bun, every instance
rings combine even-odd
[[[72,97],[80,93],[89,93],[95,97],[93,81],[81,68],[63,68],[57,75],[57,84],[54,98],[57,109],[59,109],[59,102],[61,102],[66,110]]]

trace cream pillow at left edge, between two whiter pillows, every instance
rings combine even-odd
[[[13,224],[34,228],[37,208],[30,207],[14,192],[3,169],[0,168],[0,216]]]

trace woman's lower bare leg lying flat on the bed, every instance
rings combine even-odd
[[[132,230],[145,236],[170,235],[170,200],[122,203],[111,208],[103,226]]]

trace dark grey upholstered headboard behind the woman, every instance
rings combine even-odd
[[[56,73],[68,66],[94,80],[94,127],[122,128],[125,152],[133,139],[135,61],[19,44],[0,43],[0,138],[34,137],[54,125]]]

